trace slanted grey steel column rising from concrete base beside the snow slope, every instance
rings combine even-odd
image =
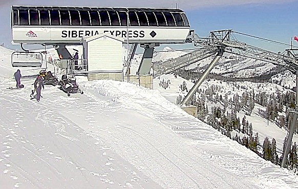
[[[202,77],[195,83],[194,87],[191,88],[191,90],[188,92],[186,97],[182,100],[182,102],[180,103],[180,106],[186,104],[190,100],[190,98],[193,97],[193,95],[196,93],[196,91],[198,90],[202,82],[206,79],[210,71],[215,67],[219,59],[222,57],[223,53],[224,53],[224,49],[221,48],[218,50],[215,58],[211,61],[209,67],[205,70]]]

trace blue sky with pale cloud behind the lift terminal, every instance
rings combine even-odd
[[[196,30],[202,37],[207,36],[209,31],[232,29],[290,44],[291,37],[298,36],[298,0],[0,0],[0,44],[4,43],[5,47],[11,49],[19,48],[11,45],[11,5],[172,8],[175,3],[186,12],[191,29]],[[238,35],[237,37],[247,44],[271,51],[288,48]],[[293,41],[293,45],[298,46],[297,41]],[[190,45],[172,47],[193,48]]]

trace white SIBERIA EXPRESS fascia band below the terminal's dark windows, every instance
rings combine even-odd
[[[187,38],[189,28],[12,28],[13,43],[81,43],[83,36],[94,36],[108,33],[130,43],[183,43]]]

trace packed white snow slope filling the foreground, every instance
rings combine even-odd
[[[1,83],[1,188],[298,188],[265,161],[158,91],[79,80],[40,102]]]

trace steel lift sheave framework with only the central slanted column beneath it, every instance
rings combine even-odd
[[[293,52],[293,49],[287,49],[282,53],[274,53],[238,41],[233,33],[242,34],[240,32],[233,32],[232,30],[219,30],[211,31],[209,36],[205,38],[195,35],[193,39],[194,46],[199,47],[199,49],[193,50],[190,53],[187,53],[175,59],[167,60],[165,62],[157,62],[156,64],[154,64],[153,67],[154,77],[158,77],[162,74],[172,73],[178,69],[194,64],[199,60],[205,59],[212,55],[216,55],[214,60],[216,59],[217,61],[212,61],[212,64],[209,65],[209,67],[203,73],[203,76],[197,81],[202,82],[210,73],[212,68],[216,66],[217,62],[220,60],[220,58],[218,58],[217,56],[222,56],[224,52],[269,62],[273,65],[289,69],[293,73],[295,73],[295,71],[297,70],[298,59],[296,57],[296,54]],[[261,39],[266,40],[264,38]],[[277,41],[272,41],[269,39],[268,41],[279,43]],[[195,85],[194,88],[198,88],[199,86],[200,85]],[[195,93],[196,90],[190,90],[190,92]],[[194,94],[191,94],[190,92],[188,96],[193,96]],[[188,100],[182,100],[180,105],[182,106],[184,104],[187,104]]]

